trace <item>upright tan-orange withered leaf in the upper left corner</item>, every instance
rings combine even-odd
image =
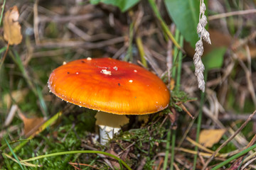
[[[18,7],[13,6],[6,11],[4,15],[4,40],[9,42],[9,45],[18,45],[21,43],[21,25],[18,23]]]

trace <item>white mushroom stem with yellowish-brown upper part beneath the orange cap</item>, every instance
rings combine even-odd
[[[115,115],[98,111],[95,115],[96,125],[100,126],[100,144],[105,145],[108,140],[114,137],[114,134],[121,130],[121,126],[129,123],[125,115]]]

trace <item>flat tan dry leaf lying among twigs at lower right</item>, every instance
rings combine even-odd
[[[225,129],[202,130],[199,135],[199,143],[204,147],[213,147],[224,135]]]

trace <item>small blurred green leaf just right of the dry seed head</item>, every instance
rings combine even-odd
[[[225,47],[215,48],[203,57],[202,61],[206,70],[220,68],[223,65],[225,51]]]

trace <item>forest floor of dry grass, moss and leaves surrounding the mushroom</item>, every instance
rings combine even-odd
[[[256,2],[205,1],[205,92],[193,64],[199,1],[91,2],[0,1],[0,169],[256,169]],[[169,107],[127,115],[101,145],[96,111],[47,83],[63,62],[87,57],[154,72]]]

